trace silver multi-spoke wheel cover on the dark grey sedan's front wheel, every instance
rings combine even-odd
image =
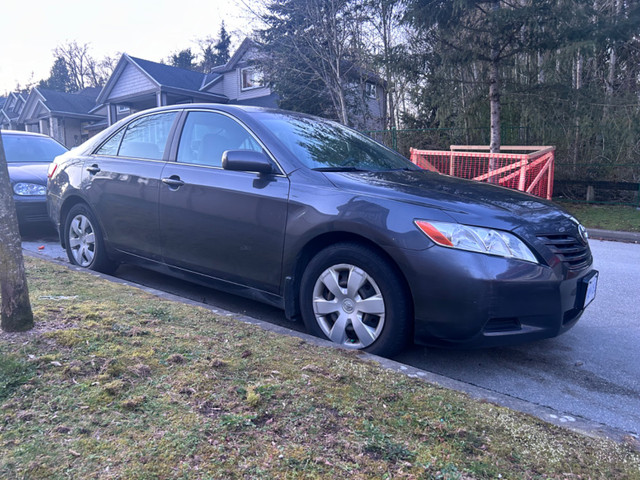
[[[385,305],[375,280],[355,265],[339,264],[320,274],[313,313],[324,334],[348,348],[366,348],[384,327]]]

